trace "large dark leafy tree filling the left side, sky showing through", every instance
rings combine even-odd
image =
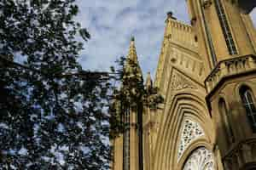
[[[77,36],[90,38],[78,11],[74,0],[0,2],[1,169],[109,166],[110,77],[77,61]]]

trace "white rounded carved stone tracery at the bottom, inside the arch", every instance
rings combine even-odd
[[[212,151],[207,150],[205,147],[193,151],[183,170],[214,170]]]

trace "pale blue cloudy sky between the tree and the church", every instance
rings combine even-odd
[[[135,37],[143,74],[154,77],[164,37],[166,13],[189,23],[185,0],[77,0],[77,20],[90,32],[80,63],[85,70],[108,71],[120,56],[126,56]],[[256,26],[256,9],[251,13]]]

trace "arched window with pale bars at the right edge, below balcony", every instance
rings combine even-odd
[[[250,88],[244,86],[240,89],[240,95],[242,105],[247,111],[247,117],[253,129],[253,133],[256,133],[256,107],[253,92]]]

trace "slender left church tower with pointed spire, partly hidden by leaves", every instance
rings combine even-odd
[[[135,39],[131,38],[129,53],[125,60],[125,73],[128,77],[137,77],[143,81],[143,74],[137,60]],[[125,84],[121,85],[125,90]],[[137,111],[125,103],[119,107],[120,121],[124,124],[124,131],[113,139],[112,170],[138,170],[139,168],[139,132]]]

